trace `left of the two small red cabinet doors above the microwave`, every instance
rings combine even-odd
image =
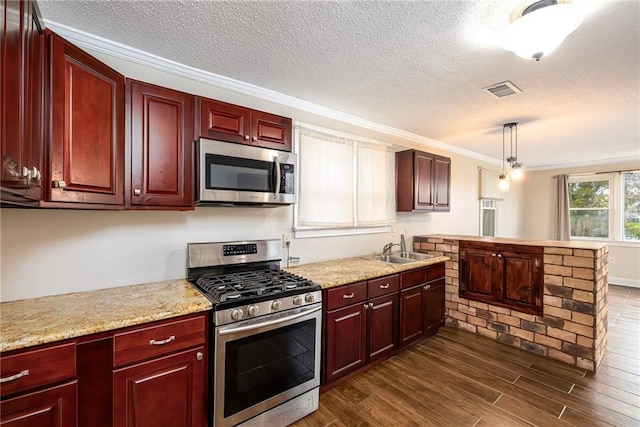
[[[200,98],[200,136],[249,144],[251,110],[213,99]]]

